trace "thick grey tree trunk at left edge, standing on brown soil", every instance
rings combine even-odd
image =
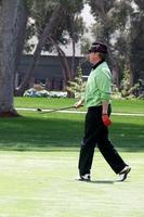
[[[0,33],[0,116],[17,116],[13,106],[14,72],[16,58],[15,34],[19,1],[3,0]]]

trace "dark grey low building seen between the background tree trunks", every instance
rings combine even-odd
[[[19,85],[24,75],[27,73],[31,63],[32,55],[23,55],[19,72],[16,76],[16,86]],[[71,65],[71,56],[67,56],[69,65]],[[77,76],[77,68],[81,65],[83,76],[89,74],[90,65],[88,63],[81,64],[83,59],[81,56],[75,58],[75,72]],[[36,67],[35,75],[31,78],[32,84],[44,84],[50,90],[63,90],[64,77],[61,61],[55,55],[41,55]]]

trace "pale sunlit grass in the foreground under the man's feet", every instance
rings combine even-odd
[[[0,152],[0,217],[143,217],[144,153],[122,156],[132,166],[126,182],[100,153],[92,182],[79,182],[78,152]]]

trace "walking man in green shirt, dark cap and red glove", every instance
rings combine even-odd
[[[126,180],[131,170],[108,139],[108,126],[112,125],[109,119],[112,74],[105,62],[106,55],[107,47],[105,44],[92,43],[89,50],[89,61],[93,67],[87,81],[84,98],[75,104],[75,107],[79,107],[84,102],[88,107],[78,165],[78,180],[81,181],[90,181],[91,179],[95,145],[112,169],[119,175],[119,181]]]

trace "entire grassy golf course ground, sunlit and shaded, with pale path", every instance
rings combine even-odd
[[[84,114],[37,112],[74,102],[15,98],[21,117],[0,119],[0,217],[144,216],[144,101],[113,101],[109,136],[132,167],[125,182],[97,150],[92,181],[75,180]]]

